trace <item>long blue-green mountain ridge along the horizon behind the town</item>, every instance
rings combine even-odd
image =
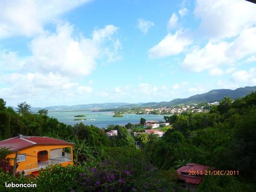
[[[233,99],[242,98],[245,95],[256,91],[256,86],[246,86],[241,87],[236,90],[230,89],[218,89],[212,90],[203,94],[196,94],[189,98],[185,99],[173,99],[169,102],[148,102],[148,103],[125,103],[125,102],[116,102],[116,103],[92,103],[85,105],[74,105],[74,106],[50,106],[45,107],[49,111],[63,111],[63,110],[91,110],[91,109],[118,109],[118,108],[132,108],[132,107],[157,107],[157,106],[174,106],[181,104],[189,104],[196,102],[215,102],[220,101],[225,97],[230,97]],[[39,107],[32,108],[33,111],[38,111]]]

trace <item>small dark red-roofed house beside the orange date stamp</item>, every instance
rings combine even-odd
[[[191,190],[195,190],[203,181],[205,171],[208,169],[210,169],[210,166],[188,163],[177,170],[178,179],[184,182],[187,188],[189,187]]]

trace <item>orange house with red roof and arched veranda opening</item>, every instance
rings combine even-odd
[[[25,175],[38,175],[39,170],[48,165],[73,164],[73,143],[50,137],[27,137],[19,135],[14,138],[0,141],[0,148],[10,148],[12,151],[7,157],[17,155],[17,171],[25,171]],[[12,165],[14,161],[12,161]]]

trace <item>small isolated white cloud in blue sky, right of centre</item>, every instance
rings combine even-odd
[[[149,51],[149,58],[163,58],[170,55],[177,55],[185,50],[192,43],[183,30],[178,30],[174,35],[167,34],[164,39],[153,46]]]

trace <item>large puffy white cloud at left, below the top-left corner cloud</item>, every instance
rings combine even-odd
[[[43,34],[30,44],[32,55],[19,58],[13,52],[0,54],[0,65],[10,69],[10,63],[18,63],[21,72],[39,71],[40,73],[58,73],[63,76],[86,76],[95,68],[97,59],[116,55],[112,36],[115,26],[106,26],[93,31],[93,38],[76,38],[69,24],[59,26],[53,34]],[[1,57],[3,56],[4,57]],[[111,58],[113,59],[113,58]]]

